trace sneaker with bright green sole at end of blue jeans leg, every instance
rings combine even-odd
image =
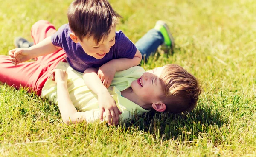
[[[164,43],[167,46],[170,46],[171,49],[173,50],[175,43],[174,43],[174,38],[171,34],[171,32],[169,31],[168,25],[166,24],[166,22],[164,21],[157,21],[154,29],[160,31],[163,35],[163,39],[164,39]]]

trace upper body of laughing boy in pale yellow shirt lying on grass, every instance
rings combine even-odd
[[[195,108],[201,92],[198,80],[176,64],[147,72],[142,67],[117,72],[108,91],[122,112],[121,122],[151,109],[189,112]],[[60,62],[53,70],[52,80],[47,80],[41,96],[58,104],[66,124],[99,119],[97,95],[84,84],[82,73],[67,63]]]

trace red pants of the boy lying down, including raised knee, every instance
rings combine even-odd
[[[54,26],[48,21],[40,20],[31,28],[31,36],[34,43],[42,41],[56,32]],[[59,61],[66,62],[64,50],[38,57],[37,61],[20,63],[14,66],[9,56],[0,56],[0,82],[15,88],[28,87],[29,91],[35,91],[41,95],[45,82],[51,76],[51,72]]]

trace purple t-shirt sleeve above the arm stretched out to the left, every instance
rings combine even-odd
[[[63,39],[66,39],[65,38],[65,30],[66,30],[66,26],[68,24],[65,24],[65,25],[62,25],[57,32],[55,32],[55,34],[53,34],[51,36],[51,40],[52,40],[52,44],[55,45],[55,46],[58,46],[58,47],[61,47],[63,48]]]

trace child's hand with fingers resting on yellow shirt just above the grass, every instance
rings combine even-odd
[[[122,112],[116,106],[115,100],[107,93],[102,93],[98,96],[99,101],[99,118],[103,120],[103,112],[106,112],[106,119],[109,125],[116,125],[119,123],[119,114]],[[111,121],[112,119],[112,121]]]

